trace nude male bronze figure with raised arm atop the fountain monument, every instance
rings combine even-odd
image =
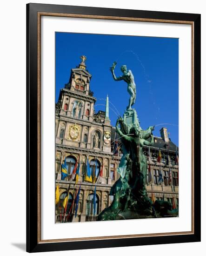
[[[116,67],[117,62],[114,61],[112,67],[110,67],[110,70],[113,75],[114,81],[121,81],[124,80],[127,83],[127,92],[130,94],[130,99],[129,99],[129,105],[127,109],[131,109],[133,104],[135,103],[136,100],[136,85],[134,82],[134,76],[131,70],[126,69],[126,65],[123,65],[120,67],[121,72],[123,75],[116,77],[114,74],[114,68]]]

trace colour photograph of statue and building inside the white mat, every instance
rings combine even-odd
[[[56,31],[54,136],[54,223],[178,218],[179,38]]]

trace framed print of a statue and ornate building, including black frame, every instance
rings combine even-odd
[[[27,251],[200,241],[200,14],[27,4]]]

